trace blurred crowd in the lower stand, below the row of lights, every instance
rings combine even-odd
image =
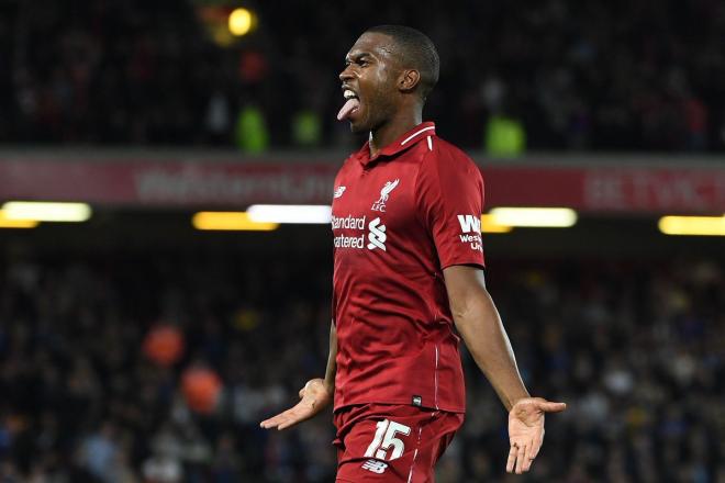
[[[0,482],[333,480],[331,414],[258,423],[324,371],[330,263],[149,254],[0,263]],[[566,401],[533,472],[504,474],[506,415],[464,351],[469,406],[442,483],[725,481],[725,265],[497,262],[488,276],[531,391]],[[177,327],[170,366],[144,349]],[[180,387],[219,374],[212,411]]]

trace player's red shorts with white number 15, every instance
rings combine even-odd
[[[335,413],[336,482],[425,483],[464,423],[464,415],[394,404]]]

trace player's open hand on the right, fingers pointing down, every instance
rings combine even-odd
[[[544,442],[544,413],[560,413],[565,403],[550,403],[542,397],[518,400],[509,412],[509,462],[506,471],[516,474],[532,468],[534,458]]]

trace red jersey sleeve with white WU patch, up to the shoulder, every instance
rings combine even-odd
[[[416,194],[440,269],[454,265],[483,267],[483,178],[473,161],[453,149],[430,153],[421,164]]]

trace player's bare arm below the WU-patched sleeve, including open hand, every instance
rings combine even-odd
[[[528,471],[544,442],[544,413],[564,411],[566,404],[529,396],[499,311],[486,290],[483,271],[453,266],[443,274],[456,328],[509,411],[511,450],[506,471]]]

